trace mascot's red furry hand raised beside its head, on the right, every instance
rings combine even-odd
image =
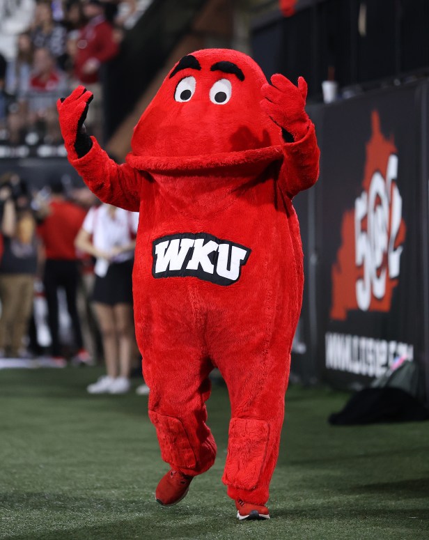
[[[261,91],[265,99],[261,107],[279,125],[286,142],[299,141],[309,130],[310,119],[304,109],[307,98],[307,84],[299,77],[295,86],[283,75],[273,75],[271,84],[263,84]]]

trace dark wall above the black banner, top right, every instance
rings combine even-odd
[[[428,28],[427,0],[298,0],[292,17],[256,17],[252,46],[265,75],[302,75],[317,99],[329,78],[360,91],[428,74]]]

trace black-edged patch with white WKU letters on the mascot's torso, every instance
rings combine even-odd
[[[208,233],[180,233],[153,241],[152,275],[198,277],[217,285],[240,279],[251,249]]]

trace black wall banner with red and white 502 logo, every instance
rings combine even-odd
[[[392,88],[325,107],[318,126],[313,307],[320,373],[338,387],[427,361],[421,107],[421,87]]]

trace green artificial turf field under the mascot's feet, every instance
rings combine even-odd
[[[332,427],[348,394],[290,387],[265,522],[241,522],[221,474],[230,409],[214,387],[214,467],[177,506],[147,397],[89,396],[100,368],[0,371],[0,539],[429,538],[429,422]],[[136,381],[137,384],[137,381]]]

